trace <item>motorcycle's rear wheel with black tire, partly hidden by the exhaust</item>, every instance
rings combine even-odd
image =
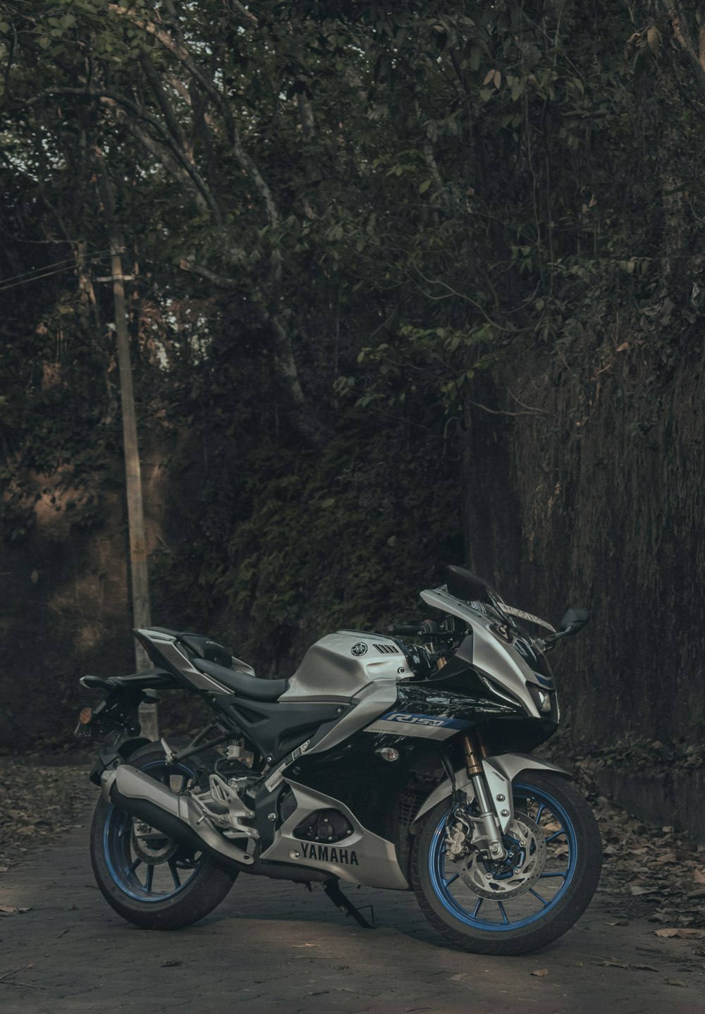
[[[130,764],[151,778],[183,792],[194,778],[186,763],[168,764],[157,743],[143,746]],[[108,903],[135,926],[179,930],[212,912],[225,897],[237,871],[218,866],[149,828],[125,810],[98,800],[90,827],[90,861]]]

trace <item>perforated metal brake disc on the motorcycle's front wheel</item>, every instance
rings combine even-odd
[[[495,863],[479,853],[457,863],[461,878],[480,897],[517,897],[536,883],[546,866],[546,837],[523,813],[516,813],[504,835],[506,859]]]

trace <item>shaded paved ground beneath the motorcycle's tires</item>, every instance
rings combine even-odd
[[[88,800],[88,807],[91,800]],[[693,1014],[705,1009],[703,940],[662,940],[629,902],[600,892],[544,951],[487,958],[452,949],[413,895],[351,890],[378,928],[359,929],[314,886],[240,875],[199,926],[146,932],[93,883],[82,825],[0,874],[0,1011],[241,1014]],[[644,967],[647,966],[647,967]],[[542,971],[545,974],[535,975]]]

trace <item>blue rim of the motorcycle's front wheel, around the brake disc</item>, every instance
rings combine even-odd
[[[508,933],[538,923],[565,896],[577,869],[577,834],[563,806],[550,793],[531,785],[515,785],[513,795],[515,803],[530,801],[526,815],[539,824],[547,843],[543,871],[525,893],[513,899],[484,898],[464,884],[454,864],[446,857],[447,815],[439,821],[431,841],[428,869],[433,891],[451,916],[476,930]],[[519,805],[518,810],[524,812],[524,805]],[[499,873],[495,877],[503,878]]]

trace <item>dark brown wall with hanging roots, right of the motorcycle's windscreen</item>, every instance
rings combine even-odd
[[[494,403],[519,414],[473,410],[467,451],[471,561],[493,573],[489,545],[507,600],[554,623],[590,609],[553,664],[572,734],[603,749],[705,731],[702,338],[681,333],[673,356],[638,327],[585,335],[559,362],[523,350]]]

